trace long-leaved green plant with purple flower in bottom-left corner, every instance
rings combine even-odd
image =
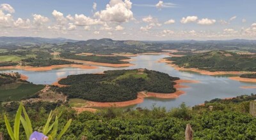
[[[22,112],[24,117],[22,116]],[[26,113],[26,109],[24,106],[22,106],[22,103],[20,103],[19,109],[17,110],[17,113],[15,115],[15,122],[13,125],[13,129],[10,126],[10,123],[8,121],[8,118],[6,115],[4,115],[4,122],[6,125],[6,129],[8,130],[8,134],[11,137],[12,140],[19,140],[19,127],[20,127],[20,122],[22,123],[22,126],[25,130],[26,137],[28,140],[60,140],[63,134],[68,130],[68,127],[70,127],[70,124],[72,122],[72,119],[68,120],[66,125],[61,129],[60,134],[57,134],[58,132],[58,118],[60,118],[61,115],[56,116],[54,122],[50,125],[50,122],[52,120],[52,111],[48,116],[47,122],[45,123],[42,133],[40,132],[33,132],[33,128],[31,125],[31,121],[29,119],[28,114]],[[51,134],[49,134],[51,132]],[[49,136],[47,137],[47,134]]]

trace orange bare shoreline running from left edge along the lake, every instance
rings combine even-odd
[[[96,66],[86,66],[81,64],[65,64],[65,65],[52,65],[52,66],[46,66],[46,67],[32,67],[32,66],[4,66],[0,67],[0,70],[5,69],[21,69],[24,71],[51,71],[52,69],[58,69],[63,67],[77,67],[81,69],[97,69]]]

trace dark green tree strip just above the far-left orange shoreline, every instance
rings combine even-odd
[[[65,65],[65,64],[78,64],[75,62],[70,62],[67,60],[56,60],[56,59],[35,59],[35,58],[28,58],[22,59],[24,65],[34,66],[34,67],[45,67],[45,66],[52,66],[52,65]]]

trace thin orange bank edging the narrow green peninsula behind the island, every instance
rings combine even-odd
[[[85,60],[74,60],[74,59],[61,59],[61,60],[68,60],[71,62],[78,62],[82,64],[89,64],[89,65],[97,65],[97,66],[106,66],[106,67],[129,67],[133,66],[134,64],[110,64],[110,63],[100,63],[100,62],[92,62],[92,61],[85,61]]]

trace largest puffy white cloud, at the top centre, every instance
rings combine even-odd
[[[97,11],[95,17],[104,22],[129,22],[133,19],[132,3],[129,0],[111,0],[106,10]]]

